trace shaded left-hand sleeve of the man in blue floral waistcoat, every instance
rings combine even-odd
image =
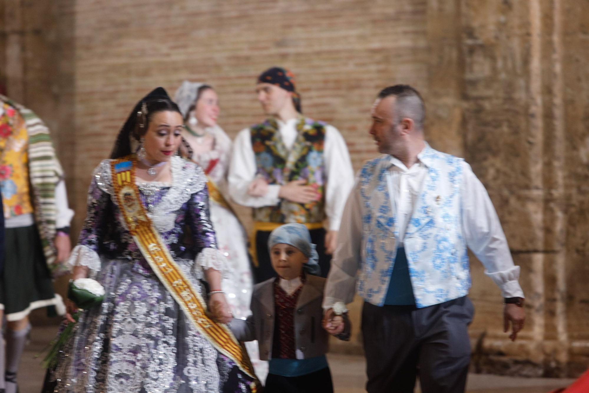
[[[337,302],[352,303],[356,292],[356,276],[360,268],[362,244],[362,213],[360,186],[353,186],[342,214],[342,225],[337,234],[337,248],[331,261],[323,309],[333,307]]]

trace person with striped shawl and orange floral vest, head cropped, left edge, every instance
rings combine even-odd
[[[64,173],[47,126],[31,110],[0,95],[0,189],[5,264],[0,274],[0,321],[6,317],[6,355],[0,338],[0,392],[15,393],[29,313],[65,313],[53,275],[71,251]]]

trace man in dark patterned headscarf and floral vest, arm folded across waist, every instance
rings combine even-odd
[[[353,186],[348,148],[335,127],[302,115],[290,71],[264,71],[256,93],[268,117],[237,135],[229,167],[231,198],[253,208],[250,253],[255,281],[274,276],[267,240],[274,228],[289,222],[309,228],[326,277]]]

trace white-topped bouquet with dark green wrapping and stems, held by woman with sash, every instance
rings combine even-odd
[[[102,300],[104,300],[104,293],[104,287],[96,280],[71,280],[70,286],[68,287],[68,299],[74,302],[79,309],[78,312],[72,315],[75,322],[78,322],[81,310],[90,310],[93,307],[100,306]],[[51,349],[49,349],[49,353],[43,359],[43,366],[45,368],[55,366],[57,355],[62,351],[64,344],[73,334],[74,326],[74,322],[68,323],[61,334],[49,344]]]

